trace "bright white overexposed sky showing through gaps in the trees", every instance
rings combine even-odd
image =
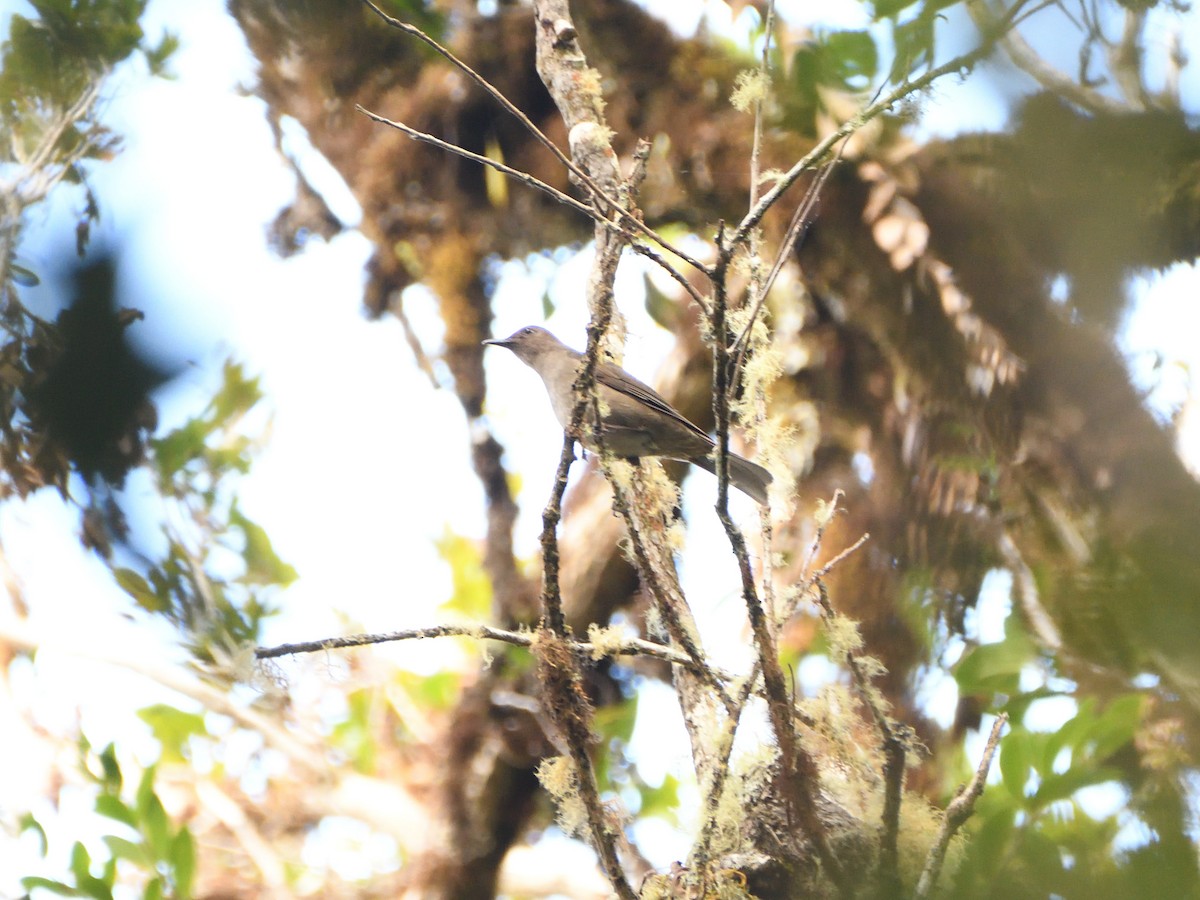
[[[787,4],[782,4],[787,6]],[[796,5],[796,4],[793,4]],[[0,16],[18,8],[0,0]],[[722,5],[707,4],[715,19]],[[860,26],[856,4],[832,6],[830,20]],[[1193,23],[1194,24],[1194,23]],[[270,443],[241,487],[241,505],[271,535],[280,554],[300,571],[300,581],[278,600],[286,614],[272,622],[268,643],[307,640],[342,630],[342,611],[365,630],[392,630],[437,620],[436,606],[450,590],[449,575],[433,541],[446,528],[482,534],[482,499],[470,474],[463,415],[449,390],[432,390],[413,365],[398,325],[390,318],[368,322],[361,312],[362,266],[371,248],[356,232],[330,244],[313,241],[289,260],[271,256],[265,226],[292,196],[292,178],[271,145],[263,104],[238,88],[253,83],[253,66],[240,31],[218,4],[154,0],[148,13],[152,35],[167,25],[184,38],[172,61],[175,80],[148,80],[125,73],[110,92],[108,120],[126,136],[125,150],[95,167],[103,223],[98,234],[119,235],[128,248],[122,281],[133,305],[150,314],[134,328],[149,347],[174,353],[186,347],[192,362],[160,402],[164,428],[194,414],[217,385],[221,362],[233,356],[260,373],[272,414]],[[1193,46],[1200,46],[1200,40]],[[1193,67],[1195,68],[1195,67]],[[938,90],[925,127],[1000,124],[996,79],[968,79]],[[1186,95],[1187,96],[1187,95]],[[1196,92],[1190,94],[1194,98]],[[966,102],[964,102],[966,101]],[[965,112],[970,110],[970,112]],[[311,180],[324,191],[343,221],[355,222],[353,198],[320,161],[304,148],[299,128],[289,132],[289,151],[304,161]],[[77,198],[62,198],[40,212],[23,246],[29,268],[50,274],[73,253]],[[580,298],[583,258],[563,264],[541,259],[528,270],[505,268],[496,332],[506,335],[541,318],[540,295],[550,283],[558,312],[550,326],[581,346],[584,313]],[[1140,302],[1123,346],[1138,359],[1160,353],[1171,364],[1163,379],[1163,402],[1178,404],[1200,372],[1200,334],[1194,302],[1196,275],[1178,269],[1147,280],[1153,289]],[[49,292],[44,292],[47,296]],[[28,294],[38,302],[37,292]],[[642,310],[641,272],[624,265],[618,287],[630,319],[628,366],[647,380],[671,337]],[[440,325],[434,301],[413,290],[406,308],[431,350],[438,349]],[[1189,326],[1182,326],[1187,322]],[[540,509],[548,496],[560,434],[548,404],[541,408],[535,376],[503,354],[487,361],[492,394],[488,414],[505,444],[512,470],[523,478],[518,550],[535,547]],[[1145,371],[1139,368],[1138,371]],[[1157,370],[1156,370],[1157,371]],[[1151,371],[1147,378],[1154,378]],[[536,404],[527,398],[536,395]],[[540,414],[544,413],[544,414]],[[714,482],[703,474],[688,481],[690,553],[685,587],[704,598],[702,626],[712,634],[737,632],[736,572],[713,572],[697,559],[724,546],[719,526],[706,514]],[[128,496],[148,497],[149,486],[131,480]],[[743,506],[749,512],[749,505]],[[151,516],[134,521],[136,534],[155,541]],[[70,622],[72,632],[110,647],[178,658],[168,641],[154,648],[144,625],[121,616],[128,601],[106,587],[106,569],[80,551],[74,515],[56,494],[42,492],[26,503],[0,506],[0,540],[17,568],[32,606],[35,628],[47,634]],[[724,558],[718,553],[718,558]],[[979,617],[984,638],[998,638],[1007,607],[998,602]],[[132,652],[132,650],[131,650]],[[437,668],[446,643],[407,643],[386,650],[416,670]],[[286,666],[287,664],[284,664]],[[103,672],[103,676],[96,672]],[[134,710],[172,700],[142,679],[97,668],[84,673],[78,660],[44,653],[32,667],[19,668],[14,689],[37,691],[43,724],[67,728],[77,709],[94,744],[144,733]],[[947,685],[932,685],[934,696]],[[953,691],[950,683],[949,690]],[[120,696],[121,704],[113,703]],[[942,702],[953,701],[953,696]],[[643,719],[677,720],[666,689],[648,692]],[[0,732],[14,734],[0,709]],[[679,730],[677,730],[679,731]],[[646,732],[640,731],[638,740]],[[661,728],[654,743],[661,744]],[[682,731],[660,756],[660,772],[686,758]],[[7,758],[37,744],[10,738]],[[647,755],[649,764],[649,755]],[[29,772],[36,757],[0,767],[0,810],[36,808],[42,785]],[[654,767],[647,774],[653,776]],[[649,829],[656,826],[648,824]],[[656,835],[670,859],[678,839]],[[28,871],[28,870],[26,870]],[[0,874],[0,895],[13,893],[10,874]]]

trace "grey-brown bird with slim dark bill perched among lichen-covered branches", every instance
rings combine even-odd
[[[541,376],[554,415],[565,428],[575,407],[575,378],[583,354],[536,325],[515,331],[503,341],[484,343],[512,350]],[[608,452],[625,457],[665,456],[716,472],[713,439],[684,419],[658,391],[611,362],[596,362],[595,379],[601,410],[600,437]],[[589,407],[584,421],[590,425],[593,418]],[[599,449],[590,434],[583,444]],[[737,454],[731,452],[728,461],[730,484],[766,504],[770,473]]]

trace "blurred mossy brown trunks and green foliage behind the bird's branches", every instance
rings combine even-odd
[[[714,222],[738,221],[752,124],[728,96],[737,74],[756,65],[757,46],[703,31],[678,37],[631,4],[580,7],[618,151],[642,136],[655,146],[646,220],[680,238],[710,238]],[[763,11],[732,7],[757,23],[750,38],[761,37]],[[516,499],[536,509],[544,498],[520,491],[487,430],[479,341],[503,314],[493,302],[496,260],[586,240],[587,223],[517,186],[498,192],[478,167],[386,132],[354,104],[560,190],[569,190],[565,173],[444,60],[355,4],[233,0],[229,10],[257,62],[253,90],[280,146],[299,124],[361,204],[359,229],[374,247],[367,312],[404,323],[414,365],[452,390],[466,418],[461,439],[480,485],[484,538],[446,527],[442,510],[394,511],[442,526],[437,552],[451,581],[438,620],[534,624],[539,562],[514,552],[512,529]],[[451,44],[565,146],[534,72],[528,10],[400,0],[388,10]],[[815,30],[785,14],[769,60],[764,184],[877,90],[948,59],[948,41],[992,37],[1003,12],[946,0],[868,4],[860,26]],[[866,652],[887,668],[880,690],[926,749],[910,788],[944,805],[973,769],[974,736],[1007,714],[992,784],[953,857],[948,893],[1184,896],[1200,884],[1192,638],[1200,632],[1192,552],[1200,497],[1174,448],[1175,421],[1164,427],[1146,409],[1112,344],[1130,305],[1129,277],[1190,264],[1200,252],[1200,139],[1190,95],[1177,86],[1192,76],[1186,53],[1160,38],[1175,28],[1182,47],[1192,34],[1182,7],[1170,4],[1026,13],[1021,25],[1033,36],[1069,37],[1078,71],[1054,70],[1022,40],[1004,38],[965,60],[956,77],[965,85],[995,78],[977,65],[985,56],[1021,67],[1028,96],[1014,101],[1007,131],[928,138],[922,92],[875,119],[828,175],[770,296],[785,365],[769,406],[792,431],[768,452],[778,472],[798,478],[778,510],[776,587],[802,580],[816,502],[845,491],[821,559],[872,535],[832,575],[830,594],[859,620]],[[91,246],[109,202],[92,190],[92,173],[122,150],[104,121],[106,85],[118,68],[169,76],[187,38],[148,38],[145,14],[144,2],[128,0],[31,2],[11,16],[0,50],[5,502],[56,490],[146,640],[167,634],[182,649],[169,668],[109,659],[176,692],[178,702],[142,710],[154,736],[149,756],[121,742],[97,752],[86,727],[46,737],[62,754],[61,778],[94,798],[102,824],[86,820],[86,830],[102,839],[71,841],[66,866],[31,874],[24,889],[97,898],[119,886],[145,896],[605,895],[602,882],[571,880],[547,862],[565,839],[544,838],[554,810],[534,772],[560,750],[528,650],[443,638],[458,643],[432,674],[365,652],[338,656],[336,678],[328,660],[298,665],[287,679],[256,664],[264,624],[286,607],[282,590],[298,577],[239,503],[240,481],[266,440],[262,388],[226,362],[206,406],[157,428],[154,391],[175,370],[133,348],[143,313],[121,295],[107,250]],[[1045,17],[1050,24],[1039,25]],[[950,92],[954,80],[935,90]],[[284,158],[296,199],[264,244],[302,254],[346,226],[295,158]],[[23,292],[48,274],[18,254],[55,192],[77,204],[71,242],[88,256],[64,280],[71,287],[61,308],[35,313]],[[764,220],[767,245],[782,240],[790,215]],[[437,350],[427,348],[438,329],[410,320],[414,286],[436,296]],[[656,282],[646,306],[676,340],[665,392],[707,426],[709,360],[695,310]],[[314,480],[336,484],[340,467],[361,464],[365,449],[336,437],[331,430],[329,469]],[[391,464],[383,455],[371,462]],[[130,540],[126,520],[137,511],[122,487],[131,473],[152,484],[162,533],[155,554]],[[612,620],[652,634],[600,485],[593,473],[574,490],[562,534],[569,618],[580,635]],[[20,563],[6,568],[19,575]],[[973,616],[1000,572],[1013,612],[1003,638],[984,643]],[[19,577],[12,583],[19,588]],[[10,602],[4,661],[18,672],[52,635],[25,629],[19,589]],[[820,678],[805,677],[814,671],[806,660],[823,659],[822,671],[845,679],[820,617],[802,610],[781,635],[803,697],[827,696]],[[104,658],[103,648],[78,644],[80,656]],[[946,671],[956,684],[953,716],[922,695]],[[679,800],[691,788],[673,773],[650,776],[631,749],[640,716],[653,715],[647,685],[664,678],[665,666],[649,660],[602,660],[586,684],[602,796],[636,823],[629,834],[652,859],[646,835],[655,826],[647,822],[695,828]],[[4,806],[12,835],[50,851],[46,812]],[[311,862],[314,845],[325,862]],[[358,862],[330,865],[343,845]],[[545,856],[521,856],[539,847]],[[628,858],[635,872],[666,868],[637,852]],[[730,889],[786,895],[744,868],[749,886],[734,878]]]

